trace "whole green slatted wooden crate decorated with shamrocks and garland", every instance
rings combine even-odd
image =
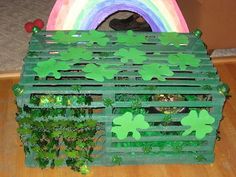
[[[26,164],[211,163],[221,87],[197,33],[38,32],[14,88]]]

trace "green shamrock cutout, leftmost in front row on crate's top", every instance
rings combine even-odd
[[[58,70],[68,70],[70,66],[66,62],[56,62],[54,59],[50,59],[47,61],[41,61],[37,63],[37,66],[34,67],[34,71],[38,74],[40,78],[48,76],[50,73],[56,79],[61,77],[61,74]]]

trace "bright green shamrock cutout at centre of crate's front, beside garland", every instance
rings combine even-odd
[[[122,116],[116,117],[113,120],[113,124],[116,126],[112,127],[111,131],[117,135],[119,140],[125,139],[129,132],[133,133],[134,139],[139,140],[141,135],[137,129],[147,129],[150,127],[142,114],[133,117],[131,112],[126,112]]]

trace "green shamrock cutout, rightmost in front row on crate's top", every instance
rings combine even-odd
[[[156,77],[160,81],[165,81],[166,79],[163,76],[173,76],[174,73],[170,70],[167,65],[160,65],[157,63],[143,65],[142,69],[139,70],[143,80],[151,80]]]

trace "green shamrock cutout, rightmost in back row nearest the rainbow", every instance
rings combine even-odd
[[[162,45],[174,45],[175,47],[180,47],[181,44],[188,44],[189,40],[186,35],[178,34],[175,32],[171,33],[161,33],[158,37]]]

